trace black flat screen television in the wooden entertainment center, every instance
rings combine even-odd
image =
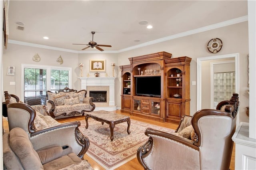
[[[161,96],[161,76],[136,77],[136,95]]]

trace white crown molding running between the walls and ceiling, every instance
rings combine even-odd
[[[176,39],[176,38],[189,36],[189,35],[192,35],[192,34],[197,34],[197,33],[200,33],[200,32],[205,32],[205,31],[208,31],[208,30],[213,30],[213,29],[216,29],[216,28],[221,28],[221,27],[225,27],[225,26],[229,26],[229,25],[233,25],[233,24],[238,24],[240,22],[246,22],[246,21],[248,21],[248,16],[242,16],[242,17],[235,18],[235,19],[232,19],[232,20],[227,20],[227,21],[224,21],[224,22],[219,22],[217,24],[212,24],[210,26],[197,28],[197,29],[182,32],[182,33],[179,33],[179,34],[174,34],[172,36],[159,38],[159,39],[152,40],[152,41],[146,42],[146,43],[141,43],[141,44],[134,45],[134,46],[131,46],[131,47],[127,47],[127,48],[124,48],[124,49],[120,49],[120,50],[117,50],[117,51],[108,51],[108,50],[105,50],[103,52],[77,51],[77,50],[72,50],[72,49],[52,47],[52,46],[48,46],[48,45],[40,45],[40,44],[28,43],[28,42],[20,42],[20,41],[16,41],[16,40],[8,40],[8,43],[14,43],[14,44],[18,44],[18,45],[27,45],[27,46],[31,46],[31,47],[38,47],[38,48],[45,48],[45,49],[52,49],[52,50],[57,50],[57,51],[65,51],[65,52],[70,52],[70,53],[120,53],[120,52],[129,51],[129,50],[140,48],[140,47],[145,47],[147,45],[152,45],[152,44],[155,44],[155,43],[165,42],[165,41],[168,41],[168,40],[173,40],[173,39]]]

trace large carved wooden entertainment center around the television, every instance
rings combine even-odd
[[[158,52],[121,65],[121,112],[162,122],[190,115],[190,57]]]

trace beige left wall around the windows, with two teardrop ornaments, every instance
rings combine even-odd
[[[41,58],[39,62],[32,60],[32,57],[36,53],[38,53]],[[63,59],[63,64],[56,62],[60,55]],[[78,75],[80,75],[78,54],[9,43],[3,55],[3,90],[8,91],[10,94],[16,94],[18,97],[21,96],[21,64],[71,67],[72,88],[81,88],[77,80]],[[15,75],[7,75],[7,68],[10,65],[15,66]],[[10,85],[10,81],[15,81],[16,85]]]

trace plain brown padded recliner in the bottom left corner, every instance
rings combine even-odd
[[[4,168],[8,170],[93,170],[81,160],[69,145],[44,140],[47,144],[35,148],[22,128],[13,128],[3,135]],[[42,141],[40,142],[42,143]]]

